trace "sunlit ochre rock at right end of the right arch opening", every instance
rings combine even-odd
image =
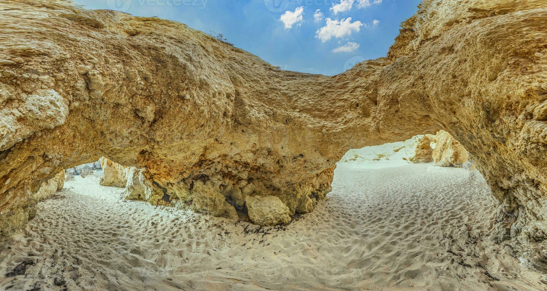
[[[427,136],[435,143],[431,153],[435,166],[461,168],[467,162],[469,158],[467,150],[450,133],[441,130],[437,132],[437,135]]]

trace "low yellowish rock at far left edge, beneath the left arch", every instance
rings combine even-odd
[[[19,205],[7,215],[0,216],[0,242],[23,228],[28,220],[36,216],[36,203],[55,195],[55,192],[63,189],[64,185],[65,171],[63,170],[42,183],[36,192],[29,195],[25,204]]]

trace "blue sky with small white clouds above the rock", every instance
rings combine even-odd
[[[400,22],[412,16],[420,3],[420,0],[73,1],[90,9],[158,16],[203,32],[222,33],[228,42],[272,65],[324,75],[341,73],[359,61],[385,56],[399,33]]]

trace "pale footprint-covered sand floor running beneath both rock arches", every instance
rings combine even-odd
[[[547,287],[488,240],[494,201],[484,180],[462,168],[340,163],[328,199],[277,228],[127,201],[122,192],[97,177],[76,177],[40,202],[11,248],[0,249],[0,288]],[[34,263],[25,275],[4,277],[25,260]]]

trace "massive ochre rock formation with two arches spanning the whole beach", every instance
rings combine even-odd
[[[501,220],[522,222],[510,237],[546,238],[546,7],[424,0],[386,57],[329,77],[172,21],[0,1],[0,215],[100,156],[196,209],[260,195],[305,213],[347,149],[443,129],[484,174]]]

